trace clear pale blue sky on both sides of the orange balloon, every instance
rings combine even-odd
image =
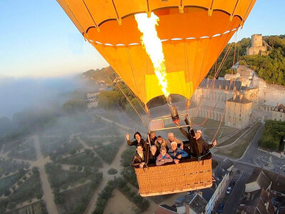
[[[285,34],[284,2],[257,0],[237,40]],[[0,1],[0,78],[51,77],[106,66],[56,0]]]

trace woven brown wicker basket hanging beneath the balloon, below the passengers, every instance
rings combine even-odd
[[[179,164],[135,168],[135,173],[143,197],[209,188],[212,186],[212,155],[201,161],[196,158]]]

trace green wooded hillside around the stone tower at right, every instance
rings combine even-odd
[[[210,69],[208,77],[214,77],[215,67],[219,68],[224,55],[229,50],[218,76],[223,77],[226,73],[234,73],[232,66],[239,61],[240,65],[249,66],[256,71],[257,76],[263,78],[266,83],[285,86],[285,35],[263,36],[263,40],[269,46],[264,55],[246,56],[247,47],[251,45],[249,38],[227,44],[217,59],[217,65],[214,63]]]

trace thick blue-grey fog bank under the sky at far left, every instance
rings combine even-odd
[[[68,99],[66,93],[81,88],[78,78],[1,78],[0,118],[28,108],[51,108]]]

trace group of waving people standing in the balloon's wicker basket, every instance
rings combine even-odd
[[[165,140],[162,136],[156,136],[155,131],[150,131],[147,140],[142,139],[137,131],[134,134],[135,141],[130,141],[130,134],[126,134],[129,146],[136,146],[136,153],[133,156],[134,167],[143,168],[147,164],[163,165],[165,163],[180,163],[180,160],[191,157],[200,157],[208,153],[209,149],[217,145],[217,141],[208,144],[202,138],[202,131],[196,133],[192,128],[188,132],[179,127],[182,134],[188,139],[183,143],[175,138],[174,133],[168,133]]]

